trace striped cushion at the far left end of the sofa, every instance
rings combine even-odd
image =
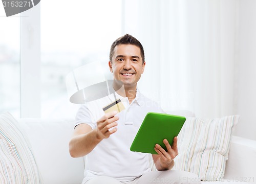
[[[42,183],[26,137],[8,112],[0,114],[0,183]]]

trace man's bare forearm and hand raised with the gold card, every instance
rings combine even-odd
[[[88,124],[79,124],[75,127],[69,142],[69,152],[72,157],[80,157],[90,153],[103,139],[107,139],[117,131],[117,112],[106,113],[97,122],[97,127],[92,129]],[[113,128],[115,127],[115,128]],[[113,128],[112,130],[109,130]]]

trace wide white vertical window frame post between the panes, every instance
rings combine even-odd
[[[20,13],[20,118],[40,118],[40,3]]]

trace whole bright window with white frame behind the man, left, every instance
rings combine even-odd
[[[110,46],[121,36],[121,7],[119,0],[41,1],[6,17],[0,6],[0,111],[74,118],[80,105],[69,102],[65,78],[92,61],[108,67]]]

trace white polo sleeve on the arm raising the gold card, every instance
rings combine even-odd
[[[96,128],[96,122],[92,121],[92,113],[87,104],[81,105],[76,113],[75,126],[79,124],[88,124],[92,129]]]

